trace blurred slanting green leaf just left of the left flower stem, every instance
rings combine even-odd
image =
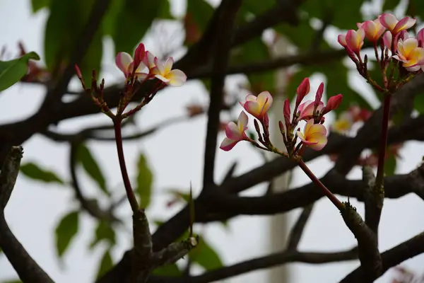
[[[78,146],[78,162],[81,163],[87,174],[98,184],[102,192],[109,195],[106,187],[106,179],[90,149],[85,144]]]

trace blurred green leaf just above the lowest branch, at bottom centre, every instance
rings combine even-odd
[[[223,267],[223,262],[215,250],[202,237],[199,245],[189,252],[189,258],[192,262],[197,263],[205,270],[214,270]]]

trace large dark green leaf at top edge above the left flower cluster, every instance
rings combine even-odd
[[[115,53],[127,52],[132,54],[134,47],[146,35],[153,20],[158,18],[166,6],[167,0],[140,1],[124,0],[122,9],[114,22],[112,39]],[[169,5],[169,4],[168,4]]]

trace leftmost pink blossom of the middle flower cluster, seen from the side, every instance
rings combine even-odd
[[[227,137],[223,139],[219,148],[223,151],[229,151],[237,144],[237,142],[248,139],[245,133],[247,130],[247,122],[249,122],[249,118],[245,112],[240,113],[237,125],[235,122],[229,122],[227,127],[225,127],[225,135]]]

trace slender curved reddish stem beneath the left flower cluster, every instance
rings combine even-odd
[[[115,140],[117,141],[119,166],[121,167],[122,180],[124,181],[126,197],[128,197],[129,204],[131,205],[132,211],[137,212],[139,210],[139,203],[137,202],[136,196],[134,195],[134,192],[131,188],[131,182],[129,181],[128,172],[126,171],[124,149],[122,147],[121,124],[122,124],[122,117],[119,117],[119,116],[114,117],[114,120],[113,120],[114,134],[115,134]]]

